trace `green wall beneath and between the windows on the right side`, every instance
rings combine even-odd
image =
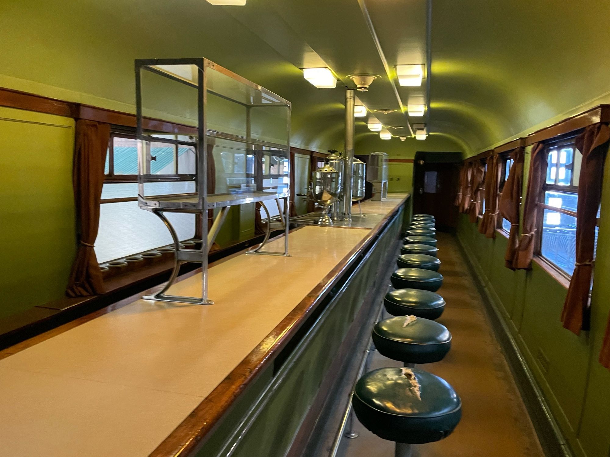
[[[526,167],[530,149],[526,151]],[[610,161],[605,175],[610,179]],[[526,182],[526,180],[525,180]],[[507,238],[487,239],[461,214],[458,238],[481,282],[508,325],[553,416],[578,457],[608,457],[610,452],[610,370],[598,363],[610,313],[610,228],[605,209],[610,186],[601,203],[592,329],[573,335],[560,322],[567,288],[539,264],[531,271],[504,267]],[[548,361],[548,362],[547,362]],[[547,369],[548,367],[548,369]]]

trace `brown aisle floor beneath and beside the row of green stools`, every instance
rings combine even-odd
[[[500,350],[467,264],[454,236],[439,233],[439,293],[445,313],[438,320],[453,335],[444,360],[419,366],[447,380],[462,399],[462,420],[448,438],[415,446],[414,457],[542,457],[544,453]],[[385,313],[385,311],[384,311]],[[390,317],[385,315],[386,317]],[[371,351],[369,369],[399,363]],[[358,438],[343,438],[342,457],[390,457],[394,445],[354,419]]]

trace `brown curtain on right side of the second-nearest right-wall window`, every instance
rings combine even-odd
[[[519,204],[523,189],[523,147],[514,149],[509,157],[514,161],[509,171],[508,179],[504,182],[502,197],[500,198],[500,214],[511,222],[511,232],[508,235],[504,264],[514,270],[514,257],[519,246]]]

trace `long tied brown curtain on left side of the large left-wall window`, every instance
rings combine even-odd
[[[68,297],[87,297],[104,292],[104,280],[93,244],[98,237],[99,200],[109,141],[109,124],[84,119],[76,121],[72,186],[79,246],[66,287]]]

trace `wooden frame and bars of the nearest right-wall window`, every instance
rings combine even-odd
[[[576,198],[578,199],[579,186],[573,185],[574,178],[575,178],[575,175],[573,173],[573,164],[574,164],[574,160],[576,158],[576,153],[578,151],[578,148],[576,147],[576,144],[575,144],[575,140],[576,140],[576,136],[580,135],[581,132],[582,132],[582,130],[577,130],[576,132],[570,132],[567,135],[562,135],[559,138],[553,138],[553,140],[548,140],[548,141],[544,142],[544,147],[545,147],[544,154],[545,154],[545,160],[547,161],[547,164],[548,164],[548,154],[551,151],[553,151],[553,150],[559,151],[562,147],[566,147],[566,146],[572,147],[572,149],[574,151],[573,155],[572,155],[572,164],[570,166],[570,169],[572,169],[572,177],[570,180],[570,185],[564,186],[564,185],[558,184],[559,173],[557,173],[555,176],[554,184],[548,184],[547,178],[545,176],[544,180],[542,181],[542,185],[540,186],[538,198],[536,201],[536,238],[534,239],[534,255],[536,256],[536,258],[538,258],[540,261],[542,261],[542,263],[545,266],[550,267],[553,270],[553,272],[561,275],[562,278],[565,278],[568,281],[570,281],[572,279],[572,275],[569,274],[568,272],[564,271],[560,266],[553,263],[552,260],[550,260],[550,259],[544,257],[544,255],[542,255],[544,211],[549,210],[549,211],[554,211],[555,213],[572,216],[574,219],[576,219],[576,224],[578,224],[578,215],[577,215],[576,211],[567,210],[565,208],[552,207],[551,205],[545,204],[544,201],[545,201],[546,193],[548,191],[557,191],[557,192],[566,193],[566,194],[576,194]],[[597,221],[596,221],[597,227],[599,227],[599,224],[600,224],[600,219],[597,218]]]

